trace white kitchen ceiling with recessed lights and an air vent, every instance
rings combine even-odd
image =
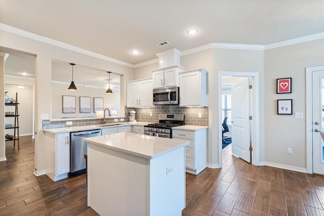
[[[324,1],[0,0],[0,22],[137,64],[172,48],[268,45],[324,32]],[[199,32],[189,36],[192,27]],[[171,44],[155,46],[165,40]]]

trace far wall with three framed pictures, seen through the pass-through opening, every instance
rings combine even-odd
[[[52,118],[63,117],[95,117],[94,112],[94,97],[103,98],[104,108],[117,111],[117,116],[125,116],[125,113],[120,114],[120,91],[113,90],[113,94],[106,94],[105,89],[99,88],[84,88],[77,86],[77,91],[69,91],[69,84],[52,83]],[[62,96],[75,96],[76,113],[62,113]],[[91,113],[80,113],[79,97],[91,97]]]

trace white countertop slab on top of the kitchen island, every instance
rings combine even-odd
[[[120,152],[152,159],[189,144],[189,141],[153,137],[133,133],[109,134],[85,141]]]

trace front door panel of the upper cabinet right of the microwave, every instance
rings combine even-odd
[[[180,74],[180,88],[180,106],[200,105],[199,72]]]

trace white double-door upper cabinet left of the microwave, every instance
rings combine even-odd
[[[127,107],[153,107],[152,78],[127,82]]]

